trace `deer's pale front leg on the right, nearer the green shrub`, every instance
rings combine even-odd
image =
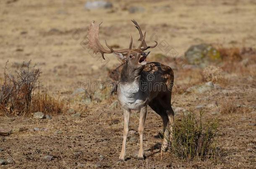
[[[141,108],[141,112],[140,112],[140,121],[138,125],[138,133],[140,135],[140,149],[138,151],[138,159],[144,159],[143,133],[144,133],[144,124],[146,120],[146,109],[147,109],[147,106]]]

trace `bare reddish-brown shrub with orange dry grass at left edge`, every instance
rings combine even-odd
[[[41,74],[36,65],[31,67],[31,61],[27,66],[22,64],[14,76],[7,74],[7,63],[8,61],[5,64],[4,81],[0,86],[0,115],[25,115],[34,111],[61,112],[64,103],[47,94],[34,94],[35,89],[39,90]]]

